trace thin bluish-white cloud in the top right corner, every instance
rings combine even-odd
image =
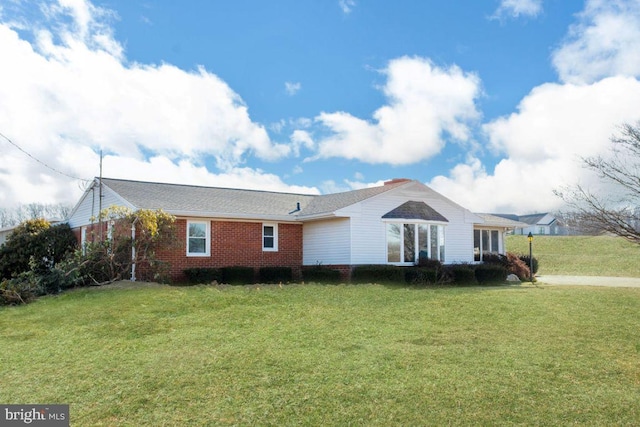
[[[640,76],[640,2],[590,0],[553,53],[560,79],[591,83],[612,75]]]

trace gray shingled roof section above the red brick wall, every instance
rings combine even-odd
[[[138,209],[220,216],[287,216],[318,196],[103,178],[102,183]],[[298,214],[299,212],[294,212]]]

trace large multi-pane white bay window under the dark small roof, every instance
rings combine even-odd
[[[420,258],[445,259],[445,227],[441,224],[388,222],[387,262],[414,264]]]

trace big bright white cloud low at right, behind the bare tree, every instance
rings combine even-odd
[[[606,154],[622,122],[640,119],[640,82],[611,77],[592,85],[534,88],[518,112],[484,126],[489,147],[504,155],[488,172],[477,158],[457,165],[430,185],[476,211],[553,210],[563,186],[590,182],[580,158]]]

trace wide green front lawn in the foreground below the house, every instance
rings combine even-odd
[[[638,425],[640,289],[80,289],[0,309],[0,402],[72,425]]]

